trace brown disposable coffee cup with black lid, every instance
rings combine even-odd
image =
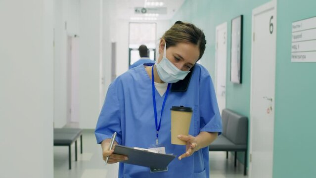
[[[190,107],[172,106],[171,110],[171,143],[185,145],[186,141],[177,136],[188,135],[193,110]]]

